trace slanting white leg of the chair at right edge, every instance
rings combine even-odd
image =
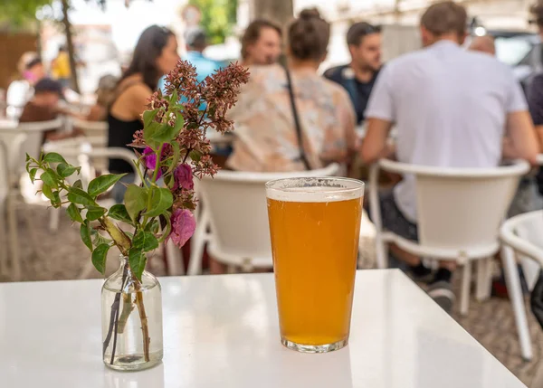
[[[524,298],[520,288],[519,270],[515,261],[515,252],[511,247],[503,246],[501,248],[501,262],[505,272],[505,282],[507,292],[510,297],[513,313],[515,314],[515,323],[519,332],[520,352],[525,360],[532,359],[531,341],[529,338],[528,319],[526,309],[524,308]]]

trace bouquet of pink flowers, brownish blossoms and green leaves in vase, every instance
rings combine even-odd
[[[142,183],[128,185],[124,203],[110,209],[100,206],[97,198],[123,175],[100,175],[83,187],[81,180],[73,182],[72,177],[80,173],[81,167],[71,166],[58,153],[26,157],[30,179],[42,181],[41,191],[52,206],[67,205],[71,220],[81,224],[81,240],[91,251],[96,270],[104,273],[107,253],[116,246],[127,258],[123,284],[131,276],[138,285],[148,252],[168,239],[182,247],[192,236],[194,177],[213,176],[217,172],[209,155],[206,130],[213,128],[224,133],[233,129],[226,112],[233,107],[248,79],[248,71],[235,63],[198,82],[195,67],[177,62],[167,75],[165,95],[157,91],[149,99],[148,109],[142,115],[144,128],[135,134],[130,145],[138,149],[135,163]],[[119,316],[119,299],[120,292],[111,307],[110,332],[113,317]],[[140,313],[145,311],[143,298],[137,296],[134,303]],[[144,342],[148,343],[145,314],[140,316]],[[107,342],[104,352],[110,341]]]

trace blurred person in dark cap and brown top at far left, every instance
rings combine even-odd
[[[57,118],[59,114],[66,113],[63,109],[59,108],[59,102],[62,99],[62,85],[60,82],[44,78],[43,80],[39,80],[33,89],[33,98],[24,105],[23,112],[19,118],[20,123],[49,121]],[[66,133],[53,129],[43,133],[43,142],[81,135],[82,133],[79,130]]]

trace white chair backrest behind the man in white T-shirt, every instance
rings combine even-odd
[[[529,165],[490,169],[405,165],[382,160],[387,171],[413,174],[419,242],[428,248],[477,251],[497,246],[498,232]]]

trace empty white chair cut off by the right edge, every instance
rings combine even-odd
[[[505,280],[519,332],[520,350],[527,360],[530,360],[533,354],[515,251],[519,253],[522,271],[531,291],[538,279],[538,272],[543,267],[541,236],[543,236],[543,211],[519,214],[504,222],[500,229],[501,260]]]

